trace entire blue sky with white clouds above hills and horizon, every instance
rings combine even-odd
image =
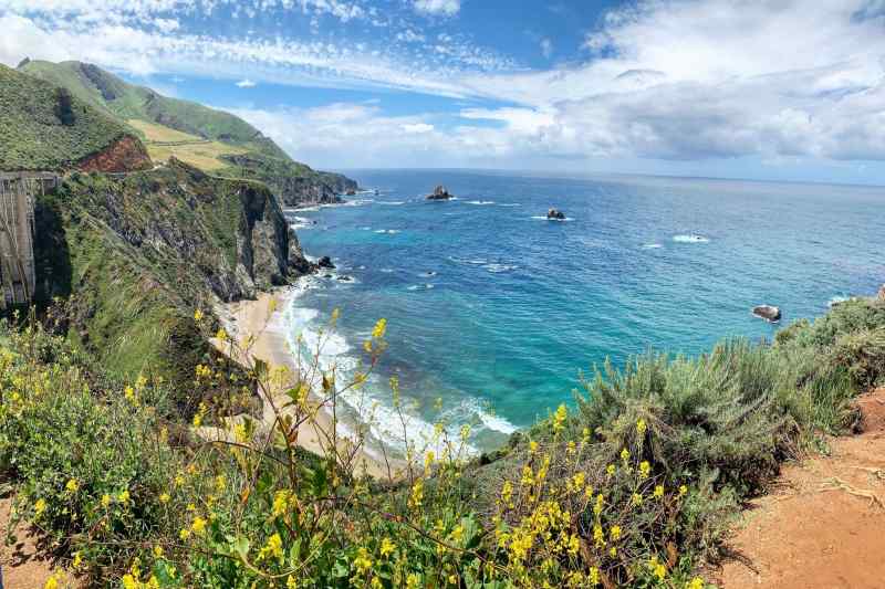
[[[885,0],[0,0],[0,31],[321,169],[885,185]]]

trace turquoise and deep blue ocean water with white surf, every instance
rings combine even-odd
[[[294,213],[305,252],[337,270],[293,299],[287,322],[312,340],[341,308],[325,358],[353,369],[387,318],[389,350],[358,409],[374,407],[378,437],[396,421],[392,375],[419,403],[413,434],[442,417],[470,423],[472,443],[489,448],[571,400],[579,371],[606,357],[623,365],[649,347],[698,354],[723,336],[770,338],[778,327],[751,316],[753,305],[779,305],[784,322],[814,317],[885,282],[879,188],[350,175],[379,193]],[[458,200],[425,201],[437,183]],[[544,220],[550,207],[569,220]]]

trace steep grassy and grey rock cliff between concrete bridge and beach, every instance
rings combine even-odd
[[[263,185],[175,162],[125,178],[73,175],[38,207],[43,297],[70,296],[69,334],[112,371],[183,382],[206,351],[194,309],[309,272]]]

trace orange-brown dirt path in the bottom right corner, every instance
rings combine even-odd
[[[730,543],[723,589],[885,589],[885,388],[860,399],[864,433],[784,467]]]

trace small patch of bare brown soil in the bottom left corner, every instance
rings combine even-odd
[[[40,537],[33,529],[19,525],[14,529],[15,540],[7,546],[6,538],[10,525],[12,499],[0,498],[0,569],[2,586],[8,589],[42,589],[56,567],[46,550],[41,546]],[[75,580],[65,576],[61,587],[76,587]]]

